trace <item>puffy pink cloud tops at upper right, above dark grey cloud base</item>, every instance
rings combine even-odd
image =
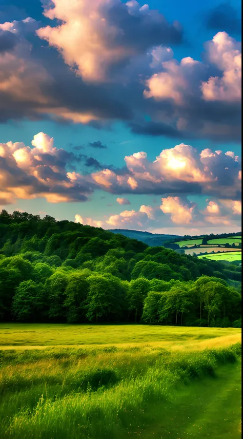
[[[212,41],[205,44],[207,63],[193,60],[190,56],[180,63],[173,59],[173,51],[167,52],[167,61],[162,60],[163,71],[154,73],[146,81],[145,98],[157,101],[174,101],[178,106],[187,106],[190,95],[205,101],[235,102],[241,98],[241,43],[226,32],[218,32]],[[209,76],[209,65],[217,66],[220,77]],[[183,117],[178,120],[184,128]]]

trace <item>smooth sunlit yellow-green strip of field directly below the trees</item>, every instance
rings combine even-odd
[[[236,328],[199,328],[154,325],[68,325],[50,323],[0,323],[0,346],[116,345],[150,343],[185,345],[214,337],[239,336]],[[237,340],[238,341],[238,340]]]

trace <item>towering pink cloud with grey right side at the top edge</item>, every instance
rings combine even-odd
[[[53,0],[44,15],[56,18],[58,26],[40,28],[37,35],[55,47],[85,81],[107,81],[117,68],[151,46],[182,40],[178,22],[170,25],[158,11],[140,7],[135,0],[70,0],[68,5],[65,0]]]

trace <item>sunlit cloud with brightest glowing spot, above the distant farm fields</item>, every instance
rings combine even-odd
[[[151,162],[144,151],[125,157],[122,174],[103,169],[91,174],[102,189],[114,194],[207,194],[240,199],[240,159],[232,151],[204,149],[183,143],[163,149]]]

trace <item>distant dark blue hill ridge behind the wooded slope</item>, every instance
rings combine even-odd
[[[175,239],[182,239],[182,236],[179,235],[163,235],[158,233],[150,233],[150,232],[139,232],[138,230],[127,230],[123,228],[114,228],[113,230],[109,230],[112,233],[119,233],[120,235],[124,235],[127,238],[137,239],[138,241],[144,242],[150,247],[156,247],[157,245],[164,245],[165,242],[174,241]]]

